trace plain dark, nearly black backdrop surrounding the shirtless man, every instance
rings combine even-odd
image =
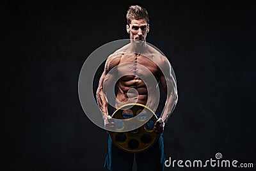
[[[177,77],[166,157],[205,160],[221,152],[256,167],[252,1],[3,1],[3,170],[104,170],[107,135],[84,115],[77,81],[93,50],[129,38],[131,4],[147,8],[147,41],[168,56]]]

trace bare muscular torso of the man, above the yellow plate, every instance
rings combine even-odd
[[[157,65],[161,64],[162,57],[152,47],[142,54],[129,52],[127,47],[123,47],[111,57],[111,68],[117,66],[116,76],[122,76],[117,82],[116,108],[124,103],[141,103],[156,110],[156,89],[162,75]]]

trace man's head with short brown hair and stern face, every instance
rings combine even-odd
[[[126,15],[127,33],[130,34],[131,40],[146,41],[149,32],[148,12],[145,8],[135,5],[130,6]]]

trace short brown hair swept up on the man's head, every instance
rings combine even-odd
[[[129,7],[129,10],[127,11],[126,19],[127,19],[128,25],[131,23],[131,20],[134,20],[134,19],[135,20],[145,19],[147,24],[149,24],[147,10],[138,5]]]

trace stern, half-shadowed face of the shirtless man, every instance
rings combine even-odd
[[[126,25],[127,33],[130,34],[131,40],[146,41],[149,31],[149,24],[145,19],[131,20],[129,25]]]

